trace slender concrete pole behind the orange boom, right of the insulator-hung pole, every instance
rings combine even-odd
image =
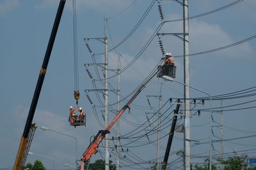
[[[117,111],[120,110],[120,56],[118,56],[118,66],[117,66]],[[120,151],[120,120],[116,122],[116,170],[119,170],[120,160],[119,160],[119,151]]]

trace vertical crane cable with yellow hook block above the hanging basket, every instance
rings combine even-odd
[[[78,106],[79,94],[79,78],[78,78],[78,57],[77,57],[77,24],[76,24],[76,0],[72,1],[73,5],[73,37],[74,37],[74,98]]]

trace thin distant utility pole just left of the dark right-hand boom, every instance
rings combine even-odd
[[[158,121],[157,121],[157,151],[156,151],[156,169],[159,169],[159,155],[160,155],[160,127],[161,127],[161,108],[162,108],[162,82],[160,83],[160,94],[159,94],[159,110],[158,110]]]

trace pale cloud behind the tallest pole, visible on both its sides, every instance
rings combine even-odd
[[[168,16],[170,18],[181,18],[175,14]],[[182,32],[182,22],[173,24],[166,24],[163,27],[163,32]],[[197,53],[204,52],[207,50],[212,50],[214,48],[219,48],[221,46],[230,45],[236,43],[241,39],[234,39],[227,31],[223,30],[218,24],[211,24],[202,20],[193,19],[189,20],[189,52]],[[168,44],[175,47],[174,49],[179,49],[178,45],[173,43],[173,41],[168,40]],[[179,41],[175,41],[176,43]],[[226,50],[220,50],[214,52],[214,55],[221,57],[228,57],[230,59],[241,59],[244,57],[252,57],[253,50],[248,42],[242,43],[232,48],[227,48]],[[175,52],[174,55],[181,55],[182,51]]]

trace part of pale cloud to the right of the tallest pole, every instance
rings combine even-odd
[[[232,38],[228,32],[221,29],[220,25],[209,24],[199,20],[190,22],[189,31],[192,53],[219,48],[241,40]],[[253,50],[249,43],[243,43],[227,50],[220,50],[214,55],[217,54],[230,59],[244,59],[244,57],[251,57],[252,53]]]

